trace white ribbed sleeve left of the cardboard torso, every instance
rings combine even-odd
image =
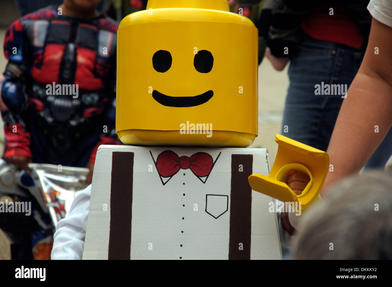
[[[91,184],[72,202],[69,215],[57,223],[54,233],[52,260],[81,260],[89,214]]]

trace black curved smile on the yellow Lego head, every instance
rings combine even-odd
[[[175,106],[178,108],[184,108],[188,106],[198,106],[206,103],[209,99],[214,96],[214,92],[209,90],[201,95],[193,96],[193,97],[171,97],[161,94],[157,90],[152,91],[152,97],[158,103],[164,106]]]

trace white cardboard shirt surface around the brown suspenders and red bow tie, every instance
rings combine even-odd
[[[206,152],[216,162],[205,183],[191,170],[180,169],[163,185],[167,178],[160,177],[154,161],[165,150],[189,157]],[[83,259],[108,258],[113,152],[134,153],[131,259],[228,259],[231,155],[251,154],[252,172],[269,173],[269,157],[262,148],[102,145],[94,166]],[[228,210],[220,215],[224,198]],[[252,190],[250,259],[281,259],[276,213],[269,212],[272,201]]]

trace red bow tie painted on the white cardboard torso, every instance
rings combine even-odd
[[[205,177],[212,170],[212,156],[205,152],[197,152],[191,157],[179,157],[175,152],[166,150],[161,152],[156,159],[156,169],[162,177],[175,175],[180,168],[189,168],[196,176]]]

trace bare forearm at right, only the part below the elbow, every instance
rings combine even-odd
[[[392,87],[383,78],[359,71],[339,112],[328,153],[330,184],[358,172],[383,141],[392,125]]]

